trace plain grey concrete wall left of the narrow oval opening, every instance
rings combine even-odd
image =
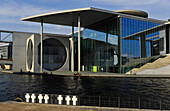
[[[30,33],[14,32],[13,33],[13,71],[26,71],[26,39]]]

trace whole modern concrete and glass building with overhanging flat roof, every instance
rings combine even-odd
[[[21,42],[18,36],[26,47],[25,66],[13,64],[14,70],[126,73],[170,52],[168,21],[148,18],[144,11],[90,7],[22,20],[40,22],[41,33],[13,39],[13,61],[19,59],[15,52]],[[72,26],[72,34],[43,34],[43,23]]]

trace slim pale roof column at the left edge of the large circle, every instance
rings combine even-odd
[[[43,72],[43,68],[42,68],[42,65],[43,65],[43,20],[41,20],[41,69],[40,69],[40,72],[42,73]]]

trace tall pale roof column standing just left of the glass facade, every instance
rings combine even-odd
[[[80,16],[78,16],[78,72],[80,72]]]

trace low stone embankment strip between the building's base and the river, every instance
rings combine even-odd
[[[114,78],[169,78],[170,74],[112,74],[112,73],[86,73],[80,72],[80,75],[75,75],[74,72],[56,72],[56,73],[31,73],[31,72],[13,72],[1,70],[0,72],[6,74],[20,74],[20,75],[46,75],[46,76],[67,76],[67,77],[114,77]]]

